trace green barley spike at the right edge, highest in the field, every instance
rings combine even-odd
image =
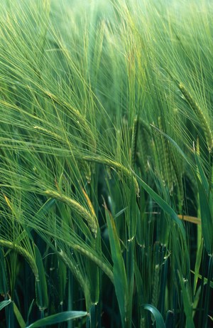
[[[202,112],[200,106],[195,102],[195,100],[192,98],[192,95],[190,92],[187,91],[185,86],[182,83],[178,84],[178,88],[182,92],[182,95],[184,95],[187,102],[192,107],[192,110],[195,112],[195,115],[200,120],[200,125],[204,131],[204,135],[207,141],[207,147],[209,149],[209,152],[212,152],[213,148],[213,136],[212,131],[210,129],[209,123],[207,122],[207,118],[204,116],[204,113]]]

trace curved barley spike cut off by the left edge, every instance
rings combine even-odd
[[[28,251],[25,248],[5,239],[0,239],[0,245],[6,248],[10,248],[11,250],[15,250],[18,254],[23,256],[23,258],[25,258],[28,264],[30,265],[33,274],[35,275],[35,279],[38,279],[38,268],[35,263],[35,260],[33,259],[33,256],[30,253],[28,253]]]

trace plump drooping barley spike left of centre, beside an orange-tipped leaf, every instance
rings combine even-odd
[[[49,197],[58,199],[59,201],[62,201],[62,203],[66,203],[67,206],[70,206],[70,208],[72,208],[75,213],[79,214],[87,221],[89,228],[94,233],[94,236],[97,236],[97,218],[94,216],[94,214],[89,213],[86,208],[80,205],[80,203],[77,203],[77,201],[74,199],[70,199],[70,197],[62,195],[58,193],[58,191],[48,189],[44,191],[44,194]]]

